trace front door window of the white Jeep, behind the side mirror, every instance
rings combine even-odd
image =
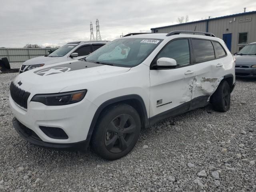
[[[177,66],[190,64],[188,39],[174,40],[167,44],[164,49],[159,52],[156,60],[162,57],[175,59],[177,62]]]

